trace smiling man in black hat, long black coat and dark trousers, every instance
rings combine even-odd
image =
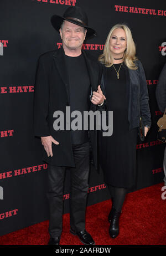
[[[70,232],[82,243],[95,244],[85,229],[89,178],[90,142],[97,167],[97,133],[84,130],[54,130],[54,111],[96,111],[105,99],[100,89],[101,66],[81,50],[85,38],[95,34],[86,13],[69,7],[63,17],[51,17],[60,32],[63,47],[39,57],[34,93],[34,131],[41,137],[43,160],[48,163],[49,244],[58,245],[62,231],[63,187],[70,170]],[[92,94],[93,91],[93,94]],[[90,93],[91,92],[91,93]],[[91,101],[90,101],[91,94]],[[66,126],[68,122],[66,121]]]

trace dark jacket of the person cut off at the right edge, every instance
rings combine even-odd
[[[155,90],[155,96],[159,110],[164,112],[166,107],[166,63],[160,73],[159,80]]]

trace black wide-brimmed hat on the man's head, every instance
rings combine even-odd
[[[63,17],[56,14],[53,15],[51,17],[51,24],[59,32],[60,26],[64,20],[87,29],[86,38],[92,37],[92,35],[96,35],[95,30],[88,27],[87,15],[80,7],[69,7],[66,9]]]

